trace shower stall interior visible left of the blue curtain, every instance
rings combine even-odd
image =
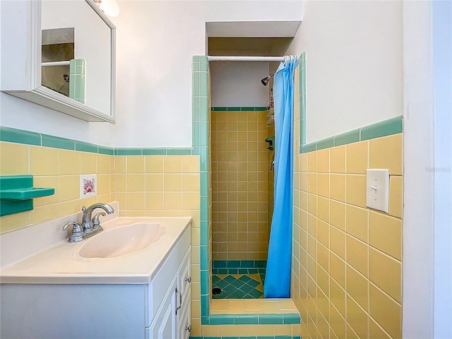
[[[210,63],[210,76],[212,297],[263,298],[273,212],[273,74],[268,62],[218,61]]]

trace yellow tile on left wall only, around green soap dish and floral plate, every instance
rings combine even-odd
[[[114,201],[114,160],[110,155],[0,142],[0,175],[32,174],[35,187],[55,194],[34,199],[34,209],[0,217],[0,232],[81,211],[95,202]],[[80,198],[80,174],[97,173],[97,196]]]

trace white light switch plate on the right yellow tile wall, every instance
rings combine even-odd
[[[389,169],[367,169],[366,206],[388,213]]]

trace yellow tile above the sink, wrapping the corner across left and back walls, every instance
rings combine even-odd
[[[97,196],[81,199],[80,174],[93,173]],[[0,175],[18,174],[32,174],[35,187],[53,187],[55,194],[36,198],[33,210],[1,217],[1,232],[114,200],[122,216],[190,215],[199,227],[198,155],[112,156],[1,142]]]

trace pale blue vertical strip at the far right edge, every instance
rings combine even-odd
[[[452,2],[433,2],[434,336],[452,338]]]

